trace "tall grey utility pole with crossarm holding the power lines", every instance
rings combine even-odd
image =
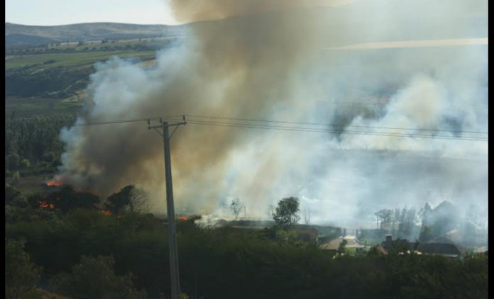
[[[172,188],[172,160],[170,157],[170,138],[173,136],[179,125],[186,125],[185,115],[182,116],[182,123],[161,122],[161,125],[150,125],[148,120],[148,130],[154,129],[163,136],[163,147],[165,152],[165,182],[166,182],[166,213],[168,215],[168,246],[170,248],[170,276],[172,286],[172,299],[179,299],[180,295],[180,273],[178,271],[178,254],[177,254],[177,231],[175,229],[175,205],[173,204]],[[172,134],[169,135],[168,128],[175,127]],[[162,128],[163,134],[158,130]]]

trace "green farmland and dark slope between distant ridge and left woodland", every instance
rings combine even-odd
[[[175,38],[162,38],[6,47],[6,100],[50,98],[55,100],[53,105],[67,99],[81,100],[95,63],[117,56],[148,64],[155,60],[157,50],[172,47],[174,43]],[[31,109],[39,108],[37,103],[32,104]]]

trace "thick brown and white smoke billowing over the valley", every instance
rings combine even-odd
[[[178,21],[221,20],[192,25],[153,69],[98,64],[76,124],[188,114],[344,125],[336,133],[179,128],[178,213],[227,213],[239,197],[261,218],[270,203],[298,196],[312,222],[358,225],[380,208],[426,201],[487,207],[487,142],[352,134],[485,137],[471,132],[487,131],[487,46],[337,50],[485,38],[487,1],[169,3]],[[62,181],[101,195],[139,184],[153,211],[165,211],[163,143],[145,123],[73,126],[61,138]]]

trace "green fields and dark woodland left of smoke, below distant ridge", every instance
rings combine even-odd
[[[84,89],[95,63],[116,56],[149,66],[156,51],[139,49],[167,41],[112,40],[10,50],[5,57],[6,159],[11,159],[6,181],[23,191],[40,192],[43,182],[53,177],[63,150],[60,128],[71,125],[84,106]],[[33,138],[39,139],[37,145],[26,143]],[[30,165],[23,166],[22,159]]]

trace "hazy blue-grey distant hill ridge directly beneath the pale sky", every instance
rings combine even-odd
[[[62,26],[27,26],[5,23],[5,45],[39,45],[79,40],[151,38],[184,35],[187,26],[80,23]]]

